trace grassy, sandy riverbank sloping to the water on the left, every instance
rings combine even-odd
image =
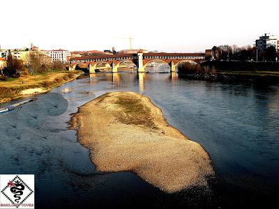
[[[45,72],[38,75],[29,75],[10,81],[0,81],[0,104],[24,97],[45,93],[52,88],[61,86],[76,79],[82,71],[75,72]]]

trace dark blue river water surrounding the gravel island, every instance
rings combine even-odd
[[[134,173],[98,173],[68,121],[77,107],[108,91],[148,96],[170,124],[201,144],[216,171],[210,188],[165,194]],[[36,98],[0,114],[0,173],[35,174],[36,208],[227,208],[277,201],[279,85],[103,73]]]

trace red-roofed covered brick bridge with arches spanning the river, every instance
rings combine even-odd
[[[114,54],[102,56],[82,56],[70,59],[69,70],[75,70],[79,64],[87,65],[89,72],[96,72],[97,65],[106,63],[112,68],[112,72],[118,72],[118,68],[124,61],[130,61],[137,67],[137,72],[144,72],[149,63],[160,61],[169,65],[171,72],[175,71],[176,65],[181,62],[200,63],[204,60],[204,53],[142,53],[137,54]]]

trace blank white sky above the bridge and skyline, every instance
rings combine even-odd
[[[204,52],[214,45],[253,45],[279,36],[278,0],[1,1],[2,49]]]

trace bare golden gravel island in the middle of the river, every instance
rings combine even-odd
[[[169,125],[143,95],[106,93],[82,105],[71,125],[98,171],[132,171],[169,193],[206,187],[214,175],[202,146]]]

